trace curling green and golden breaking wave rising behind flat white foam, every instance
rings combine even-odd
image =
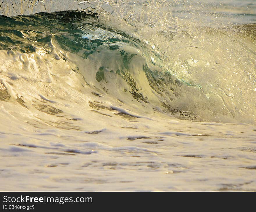
[[[23,116],[136,101],[143,113],[255,124],[255,24],[144,19],[91,7],[1,15],[0,100]]]

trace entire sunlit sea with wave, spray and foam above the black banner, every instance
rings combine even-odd
[[[0,1],[1,191],[256,191],[256,1]]]

